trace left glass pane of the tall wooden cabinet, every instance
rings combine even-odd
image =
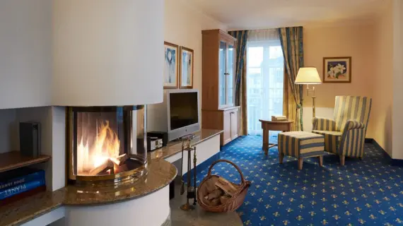
[[[219,105],[226,105],[226,59],[227,43],[220,42],[220,52],[218,54],[218,98]]]

